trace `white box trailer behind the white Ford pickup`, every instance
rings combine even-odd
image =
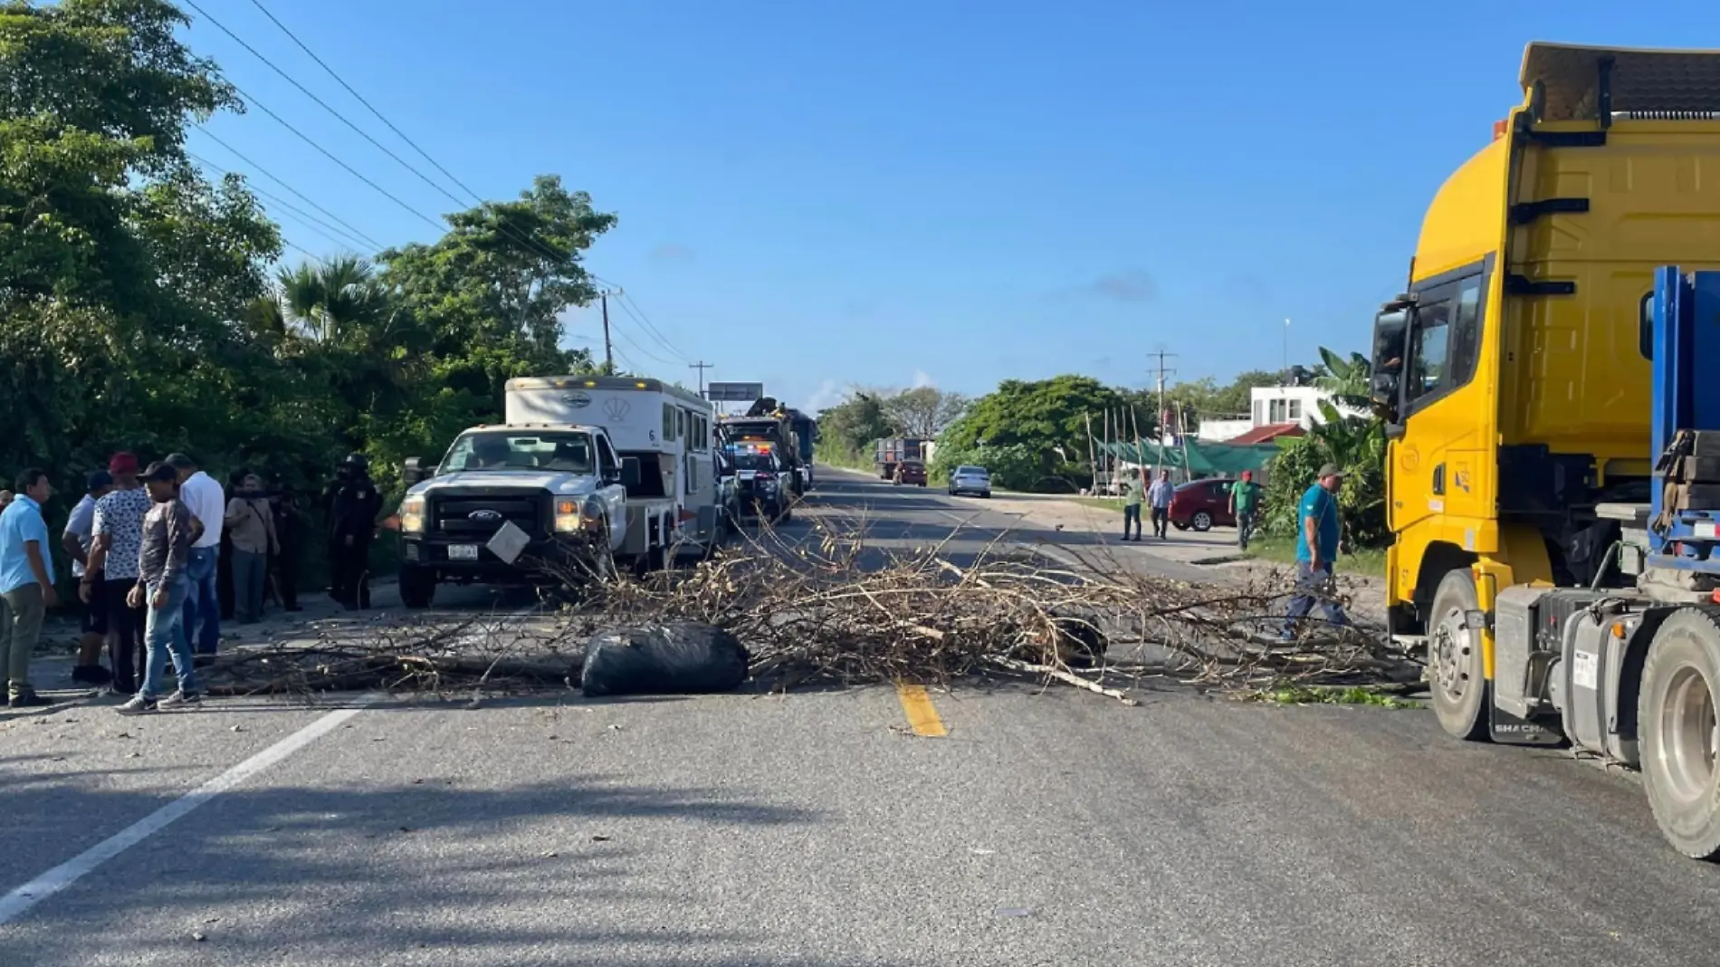
[[[513,379],[506,418],[509,425],[597,423],[623,461],[638,461],[638,484],[628,487],[630,544],[643,540],[645,552],[674,554],[721,542],[714,411],[697,392],[631,377]],[[673,506],[664,509],[664,501]],[[631,537],[635,525],[638,537]]]

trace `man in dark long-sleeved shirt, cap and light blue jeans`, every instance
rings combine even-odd
[[[114,709],[122,716],[138,716],[157,709],[179,709],[198,704],[203,695],[196,687],[191,647],[181,635],[186,597],[191,594],[191,545],[196,532],[194,518],[179,499],[179,471],[167,463],[151,463],[143,471],[143,485],[150,489],[150,514],[143,518],[143,549],[138,554],[138,583],[131,588],[132,607],[144,607],[143,638],[150,657],[144,661],[143,687],[129,702]],[[162,678],[167,673],[167,654],[174,656],[179,690],[160,699]]]

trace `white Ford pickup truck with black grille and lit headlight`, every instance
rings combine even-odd
[[[662,566],[674,501],[630,508],[638,473],[604,427],[576,423],[473,427],[439,466],[406,461],[401,601],[428,607],[439,583],[604,580],[617,563]]]

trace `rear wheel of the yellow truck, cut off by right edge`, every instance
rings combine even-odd
[[[1674,611],[1655,631],[1637,693],[1643,790],[1667,841],[1699,860],[1720,857],[1717,692],[1720,614]]]

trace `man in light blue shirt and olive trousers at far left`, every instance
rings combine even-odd
[[[41,638],[43,613],[60,602],[48,521],[41,520],[41,504],[52,496],[48,475],[31,468],[17,475],[17,496],[0,511],[0,666],[14,709],[50,704],[29,685],[29,656]]]

